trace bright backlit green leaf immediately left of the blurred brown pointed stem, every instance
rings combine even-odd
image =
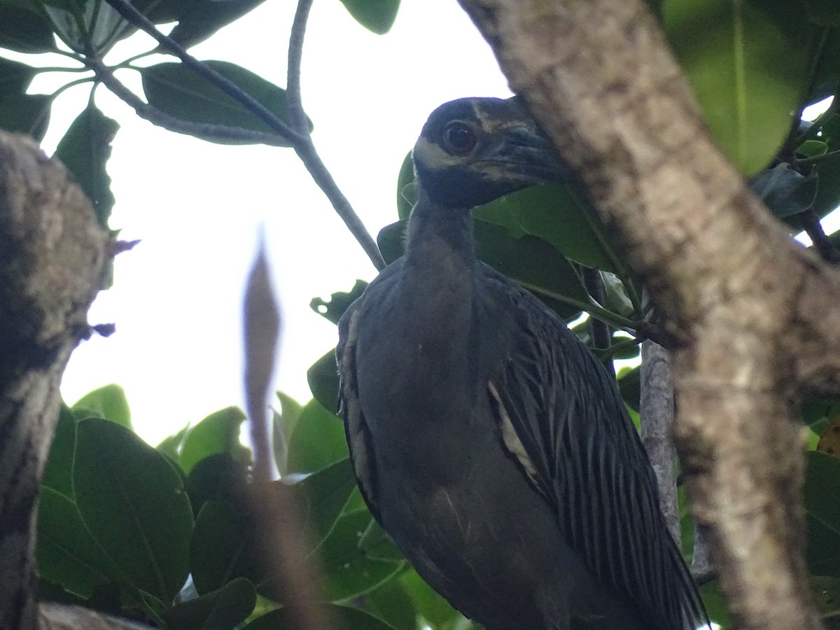
[[[239,462],[250,463],[250,451],[239,443],[239,428],[247,419],[239,407],[213,412],[187,433],[181,449],[181,470],[188,473],[205,457],[229,453]]]

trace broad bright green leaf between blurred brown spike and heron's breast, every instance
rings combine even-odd
[[[316,472],[347,456],[344,423],[320,402],[308,402],[291,432],[288,472]]]

